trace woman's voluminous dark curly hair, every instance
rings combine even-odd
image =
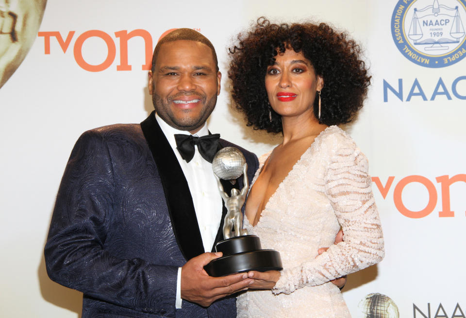
[[[271,24],[261,17],[249,32],[240,33],[238,43],[229,49],[232,97],[236,108],[245,113],[248,126],[282,132],[280,115],[272,110],[272,121],[269,120],[265,76],[275,56],[290,47],[296,53],[302,52],[316,75],[324,80],[319,122],[350,123],[363,106],[370,85],[360,46],[325,23]],[[318,97],[314,105],[316,118],[317,113]]]

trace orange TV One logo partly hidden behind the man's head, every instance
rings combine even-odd
[[[165,36],[167,33],[175,29],[170,29],[164,32],[160,38]],[[193,28],[200,32],[200,29]],[[146,30],[136,29],[131,32],[128,30],[121,30],[115,32],[115,40],[111,35],[104,31],[100,30],[89,30],[84,32],[81,35],[75,36],[75,31],[69,31],[67,35],[62,35],[58,31],[49,31],[49,32],[39,32],[37,35],[39,37],[44,37],[44,53],[50,54],[50,43],[51,41],[57,41],[62,49],[63,53],[67,53],[67,50],[70,48],[71,42],[74,40],[73,55],[76,63],[85,71],[90,72],[100,72],[108,69],[116,59],[116,46],[117,42],[119,44],[119,63],[116,65],[116,71],[131,71],[132,66],[128,63],[128,43],[133,38],[142,38],[144,40],[145,46],[145,55],[141,69],[143,71],[150,70],[152,66],[152,51],[153,51],[153,40],[152,35]],[[107,47],[107,55],[105,58],[98,64],[89,63],[89,57],[94,58],[93,56],[84,56],[83,55],[83,46],[86,41],[90,38],[97,38],[102,41]],[[160,39],[159,38],[159,39]],[[87,60],[86,60],[87,58]]]

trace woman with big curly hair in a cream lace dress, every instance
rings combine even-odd
[[[248,125],[283,133],[259,160],[244,219],[264,248],[280,251],[283,270],[249,272],[250,288],[260,290],[238,296],[238,317],[350,317],[330,281],[383,258],[367,159],[337,126],[351,122],[366,97],[360,53],[325,23],[265,18],[230,49],[237,108]],[[344,241],[332,245],[340,226]]]

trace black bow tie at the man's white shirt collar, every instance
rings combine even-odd
[[[192,135],[175,134],[176,149],[180,152],[181,157],[186,162],[191,161],[194,157],[194,145],[198,145],[198,150],[202,158],[212,162],[217,152],[218,139],[220,134],[194,137]]]

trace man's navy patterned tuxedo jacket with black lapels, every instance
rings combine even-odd
[[[251,180],[257,157],[235,147]],[[230,193],[231,183],[223,186]],[[225,207],[218,212],[216,241]],[[234,297],[208,308],[183,300],[175,309],[178,267],[203,252],[188,184],[154,113],[141,124],[81,135],[57,194],[45,260],[53,281],[83,292],[83,318],[236,317]]]

